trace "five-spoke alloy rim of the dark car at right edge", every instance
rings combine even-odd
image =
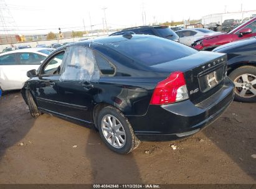
[[[245,73],[239,75],[234,80],[235,94],[242,98],[252,98],[256,96],[256,76]]]

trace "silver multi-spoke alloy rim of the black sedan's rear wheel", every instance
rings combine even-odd
[[[102,132],[111,146],[120,149],[125,145],[125,129],[115,116],[107,114],[102,118]]]

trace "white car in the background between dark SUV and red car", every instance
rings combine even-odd
[[[221,32],[214,32],[209,29],[204,28],[192,28],[192,29],[183,29],[176,31],[176,34],[179,35],[179,42],[184,45],[191,46],[196,40],[201,37],[206,37],[209,35],[216,35]]]

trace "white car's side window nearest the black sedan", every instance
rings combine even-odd
[[[40,64],[45,56],[36,53],[19,53],[19,62],[22,65]]]

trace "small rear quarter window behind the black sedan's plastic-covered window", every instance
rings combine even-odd
[[[102,75],[113,75],[115,73],[113,65],[106,58],[103,58],[100,53],[95,52],[95,59]]]

